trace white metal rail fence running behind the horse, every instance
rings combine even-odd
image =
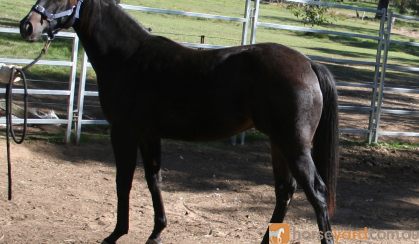
[[[288,2],[292,3],[305,3],[305,4],[315,4],[315,5],[322,5],[327,6],[329,8],[336,8],[336,9],[345,9],[358,12],[365,13],[377,13],[376,9],[371,8],[359,8],[354,6],[347,6],[347,5],[339,5],[339,4],[332,4],[326,2],[318,2],[318,1],[304,1],[304,0],[290,0]],[[400,48],[401,46],[407,46],[409,48],[419,48],[419,43],[414,41],[400,41],[400,40],[391,40],[392,36],[392,28],[394,25],[397,25],[399,21],[419,21],[417,18],[413,18],[410,16],[402,16],[402,15],[393,15],[391,12],[387,13],[385,10],[382,12],[382,17],[380,19],[379,25],[377,26],[376,35],[370,34],[363,34],[354,32],[341,32],[341,31],[330,31],[327,29],[320,29],[320,28],[308,28],[306,26],[292,26],[282,24],[280,22],[268,22],[263,21],[264,17],[264,10],[260,8],[260,1],[255,0],[254,3],[250,0],[246,0],[244,2],[244,14],[243,17],[231,17],[231,16],[222,16],[222,15],[212,15],[212,14],[205,14],[205,13],[196,13],[196,12],[187,12],[187,11],[179,11],[179,10],[169,10],[169,9],[159,9],[159,8],[150,8],[144,6],[133,6],[133,5],[125,5],[121,4],[127,11],[135,11],[135,12],[144,12],[144,13],[151,13],[151,14],[164,14],[164,15],[179,15],[185,16],[186,18],[199,18],[199,19],[210,19],[210,20],[217,20],[217,21],[226,21],[226,22],[233,22],[239,23],[242,25],[241,27],[241,44],[245,45],[247,43],[254,44],[259,41],[257,38],[257,33],[263,30],[267,31],[278,31],[277,35],[281,35],[281,31],[292,31],[292,32],[299,32],[299,33],[314,33],[314,34],[321,34],[327,36],[336,36],[336,37],[345,37],[345,38],[353,38],[354,45],[363,45],[362,40],[369,40],[376,42],[374,48],[375,56],[371,60],[358,60],[352,57],[348,58],[331,58],[327,56],[320,56],[320,55],[312,55],[310,56],[313,60],[323,62],[327,64],[332,70],[334,69],[349,69],[357,72],[359,68],[366,67],[370,69],[371,72],[365,76],[365,80],[356,80],[353,81],[349,78],[349,75],[342,75],[342,77],[337,77],[337,85],[339,88],[339,93],[342,95],[343,100],[339,103],[339,110],[341,112],[341,120],[351,120],[351,118],[362,118],[365,121],[363,124],[359,121],[353,123],[346,123],[344,126],[340,128],[342,133],[346,134],[357,134],[363,135],[369,139],[370,142],[377,141],[380,136],[419,136],[419,130],[414,131],[417,129],[415,126],[406,126],[406,128],[402,128],[402,130],[389,130],[392,124],[395,121],[403,123],[402,117],[405,116],[406,120],[409,120],[409,123],[406,124],[418,124],[418,120],[414,119],[415,116],[419,115],[418,106],[414,102],[407,101],[403,103],[402,106],[397,106],[396,102],[398,101],[397,94],[411,94],[414,96],[415,94],[419,94],[418,82],[415,80],[414,76],[417,75],[419,72],[419,68],[416,66],[401,66],[401,65],[394,65],[391,63],[391,51],[394,48]],[[250,29],[250,30],[249,30]],[[7,32],[8,31],[8,32]],[[250,35],[248,32],[250,31]],[[17,30],[5,30],[0,29],[0,32],[13,32],[17,33]],[[158,32],[158,31],[157,31]],[[73,102],[74,102],[74,87],[75,87],[75,68],[77,67],[77,52],[78,49],[78,39],[74,34],[71,33],[63,33],[61,34],[62,37],[70,37],[74,38],[73,43],[73,57],[70,63],[65,63],[66,65],[70,65],[72,67],[71,76],[70,76],[70,85],[69,90],[60,91],[59,93],[62,95],[68,96],[68,119],[67,120],[60,120],[60,121],[31,121],[31,122],[39,122],[39,123],[67,123],[67,135],[66,140],[68,141],[70,138],[70,130],[72,121],[75,122],[75,134],[77,142],[80,139],[80,135],[82,133],[82,127],[84,125],[99,125],[99,124],[106,124],[105,120],[97,119],[97,118],[89,118],[85,116],[85,108],[86,108],[86,99],[96,98],[98,96],[96,88],[93,86],[93,89],[86,89],[86,81],[87,81],[87,73],[89,72],[90,64],[88,63],[87,57],[84,55],[81,70],[80,70],[80,80],[79,80],[79,91],[77,96],[77,110],[75,113],[75,118],[73,119]],[[261,40],[266,41],[266,40]],[[268,40],[269,41],[269,40]],[[202,42],[202,38],[201,38]],[[224,47],[222,45],[211,45],[211,44],[203,44],[203,43],[183,43],[186,46],[190,46],[193,48],[221,48]],[[284,43],[285,45],[291,46],[292,44]],[[343,50],[344,53],[344,50]],[[17,62],[16,60],[11,59],[0,59],[0,62],[7,63],[22,63]],[[12,61],[12,62],[10,62]],[[55,61],[56,62],[56,61]],[[64,62],[64,61],[60,61]],[[45,61],[40,62],[40,65],[47,64]],[[52,64],[52,63],[48,63]],[[64,63],[62,63],[64,64]],[[59,65],[54,63],[53,65]],[[61,63],[60,63],[61,65]],[[388,78],[387,73],[389,72],[410,72],[414,73],[412,79],[408,81],[397,79],[398,76],[392,75]],[[389,85],[386,84],[386,79],[390,80]],[[364,99],[364,101],[346,101],[346,93],[348,91],[358,91],[362,90],[362,92],[366,92],[368,99]],[[4,92],[0,90],[0,92]],[[35,91],[31,91],[32,94],[36,94]],[[34,93],[35,92],[35,93]],[[47,92],[48,93],[48,92]],[[48,93],[51,95],[57,94],[57,91],[52,91]],[[388,102],[387,102],[388,101]],[[414,101],[414,99],[412,100]],[[96,108],[98,106],[96,105]],[[390,118],[390,119],[389,119]],[[413,119],[412,119],[413,118]],[[1,122],[1,121],[0,121]],[[396,122],[396,123],[398,123]]]

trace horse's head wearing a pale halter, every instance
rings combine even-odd
[[[74,24],[82,3],[83,0],[38,0],[20,22],[20,34],[28,41],[38,40],[43,33],[53,38],[59,30]]]

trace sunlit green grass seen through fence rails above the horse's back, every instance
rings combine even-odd
[[[194,1],[190,0],[176,1],[176,3],[144,0],[131,0],[126,2],[149,7],[173,8],[228,16],[242,16],[244,12],[244,1],[240,0],[201,1],[200,4],[194,4]],[[366,5],[368,4],[365,3],[364,7]],[[372,4],[369,4],[368,7],[373,6]],[[333,23],[320,27],[316,26],[315,28],[372,36],[378,35],[379,22],[373,19],[374,14],[369,14],[369,18],[361,20],[355,18],[355,11],[352,10],[330,9],[330,12],[333,14],[333,18],[331,17]],[[167,36],[177,41],[199,42],[199,36],[205,35],[207,37],[206,41],[211,44],[237,45],[240,43],[240,24],[198,20],[196,18],[185,18],[180,16],[144,14],[138,12],[130,13],[146,27],[151,27],[154,33]],[[263,22],[304,26],[301,20],[293,16],[284,4],[262,4],[259,20]],[[417,26],[411,26],[412,29],[416,27]],[[187,31],[185,32],[185,30]],[[299,32],[278,31],[264,28],[258,28],[256,39],[258,42],[281,43],[308,55],[361,61],[375,61],[377,48],[377,42],[374,40],[340,36],[307,35]],[[412,41],[412,38],[410,37],[396,34],[392,35],[392,39]],[[390,63],[392,64],[412,66],[419,61],[417,51],[412,52],[412,48],[395,45],[393,45],[391,49],[391,57]]]

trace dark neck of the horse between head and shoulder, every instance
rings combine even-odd
[[[85,1],[74,26],[94,67],[122,65],[149,36],[119,7],[104,0]]]

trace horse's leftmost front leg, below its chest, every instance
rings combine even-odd
[[[111,142],[116,162],[116,190],[118,195],[117,222],[115,230],[102,243],[115,243],[128,233],[129,193],[137,161],[138,141],[135,133],[126,126],[112,125]]]

